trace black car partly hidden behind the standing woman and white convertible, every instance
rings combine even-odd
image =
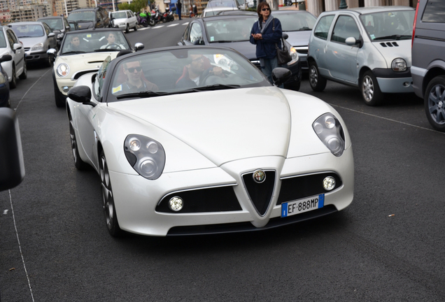
[[[216,15],[193,20],[185,29],[178,45],[223,45],[237,50],[260,68],[260,59],[255,55],[256,47],[251,44],[250,30],[258,20],[257,15]],[[283,34],[284,38],[288,36]],[[283,65],[292,71],[292,77],[284,83],[286,89],[298,90],[302,80],[302,68],[295,48],[285,41],[292,61]]]

